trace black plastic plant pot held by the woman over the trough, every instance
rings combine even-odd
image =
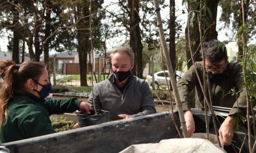
[[[87,114],[85,111],[80,111],[76,113],[78,117],[78,127],[86,127],[90,125],[109,122],[109,111],[97,109],[98,115],[95,115],[94,109],[91,109],[90,113],[91,114]]]

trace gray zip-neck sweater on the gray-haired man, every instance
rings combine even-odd
[[[156,113],[155,103],[149,85],[133,75],[123,93],[109,79],[97,83],[93,87],[96,109],[110,111],[109,120],[120,120],[119,114],[133,117]],[[88,102],[93,105],[92,92]],[[92,107],[93,108],[93,107]]]

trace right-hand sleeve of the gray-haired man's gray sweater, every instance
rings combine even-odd
[[[152,92],[150,91],[149,85],[143,81],[142,83],[142,100],[141,100],[141,112],[138,114],[132,115],[132,117],[138,117],[148,114],[156,113],[156,105],[152,96]]]

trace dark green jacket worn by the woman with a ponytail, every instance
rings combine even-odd
[[[55,133],[49,116],[76,111],[79,104],[77,98],[45,100],[29,93],[15,93],[1,127],[0,143]]]

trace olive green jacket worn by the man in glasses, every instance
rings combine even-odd
[[[200,80],[203,84],[203,61],[195,63],[200,76]],[[209,80],[207,83],[207,98],[209,99],[209,90],[211,91],[211,98],[214,106],[231,107],[229,115],[242,113],[242,110],[246,110],[246,98],[245,90],[240,93],[239,98],[235,95],[229,94],[229,91],[235,89],[236,92],[243,89],[243,68],[238,63],[227,63],[226,71],[224,71],[224,77],[218,81]],[[206,80],[207,82],[207,80]],[[185,75],[177,83],[178,92],[180,95],[181,103],[183,104],[183,110],[190,110],[189,93],[196,87],[196,107],[200,108],[204,106],[204,96],[201,90],[198,78],[196,76],[195,66],[191,66]],[[239,109],[238,109],[239,107]],[[178,109],[176,108],[176,111]]]

